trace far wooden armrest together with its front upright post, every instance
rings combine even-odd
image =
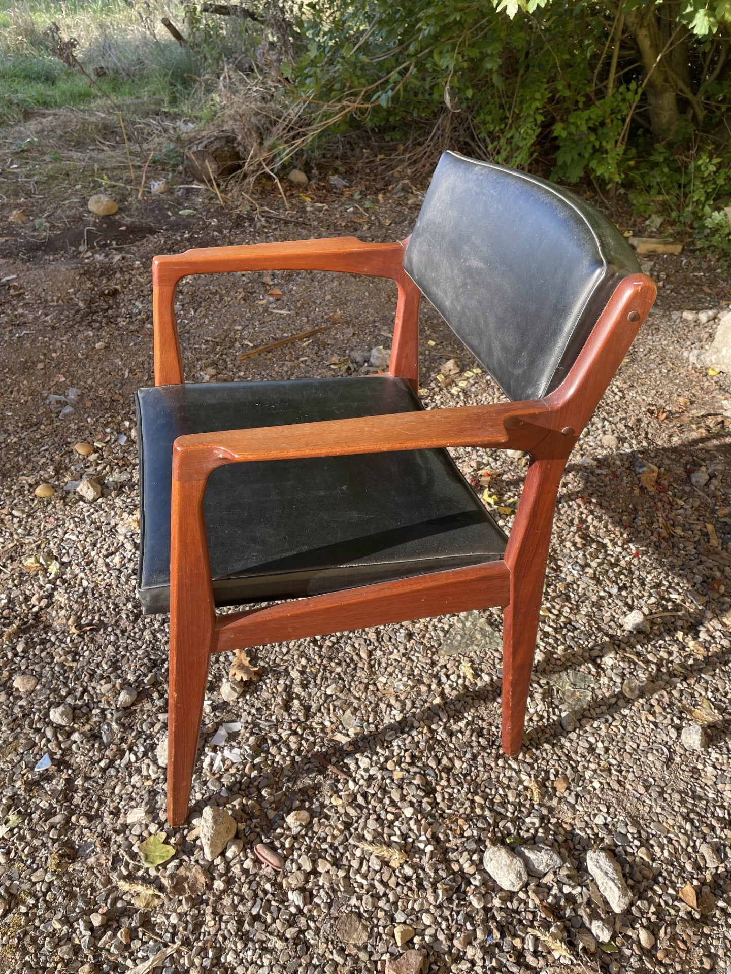
[[[408,290],[409,283],[404,281],[404,250],[402,243],[365,244],[356,237],[333,237],[284,244],[201,247],[154,257],[155,385],[178,385],[183,381],[174,312],[175,287],[182,278],[230,271],[339,271],[397,281],[401,301],[402,292],[404,288]]]

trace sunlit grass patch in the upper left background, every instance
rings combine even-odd
[[[187,47],[176,44],[164,17],[188,35]],[[49,51],[44,32],[52,23],[78,42],[74,55],[94,84]],[[0,0],[0,125],[37,108],[106,100],[99,90],[118,103],[200,114],[222,60],[250,49],[251,35],[241,18],[186,23],[180,0]]]

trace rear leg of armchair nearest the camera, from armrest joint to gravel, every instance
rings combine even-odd
[[[505,551],[511,583],[510,605],[503,615],[502,744],[511,757],[522,744],[558,484],[565,465],[565,459],[531,463]]]

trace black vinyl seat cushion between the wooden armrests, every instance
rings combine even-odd
[[[136,406],[145,614],[170,609],[177,436],[422,408],[391,376],[158,386]],[[213,470],[204,506],[216,605],[494,561],[507,541],[446,450],[230,464]]]

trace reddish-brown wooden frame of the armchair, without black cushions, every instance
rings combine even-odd
[[[181,278],[225,271],[339,271],[396,281],[389,371],[418,387],[420,291],[406,276],[407,241],[352,237],[188,250],[153,261],[155,384],[183,382],[174,317]],[[502,746],[520,750],[558,484],[571,450],[655,299],[635,274],[619,283],[565,380],[542,399],[294,426],[197,433],[173,446],[168,820],[187,815],[212,653],[364,626],[504,608]],[[374,380],[377,381],[377,380]],[[203,499],[213,469],[257,460],[474,446],[530,454],[504,559],[384,581],[218,617]]]

